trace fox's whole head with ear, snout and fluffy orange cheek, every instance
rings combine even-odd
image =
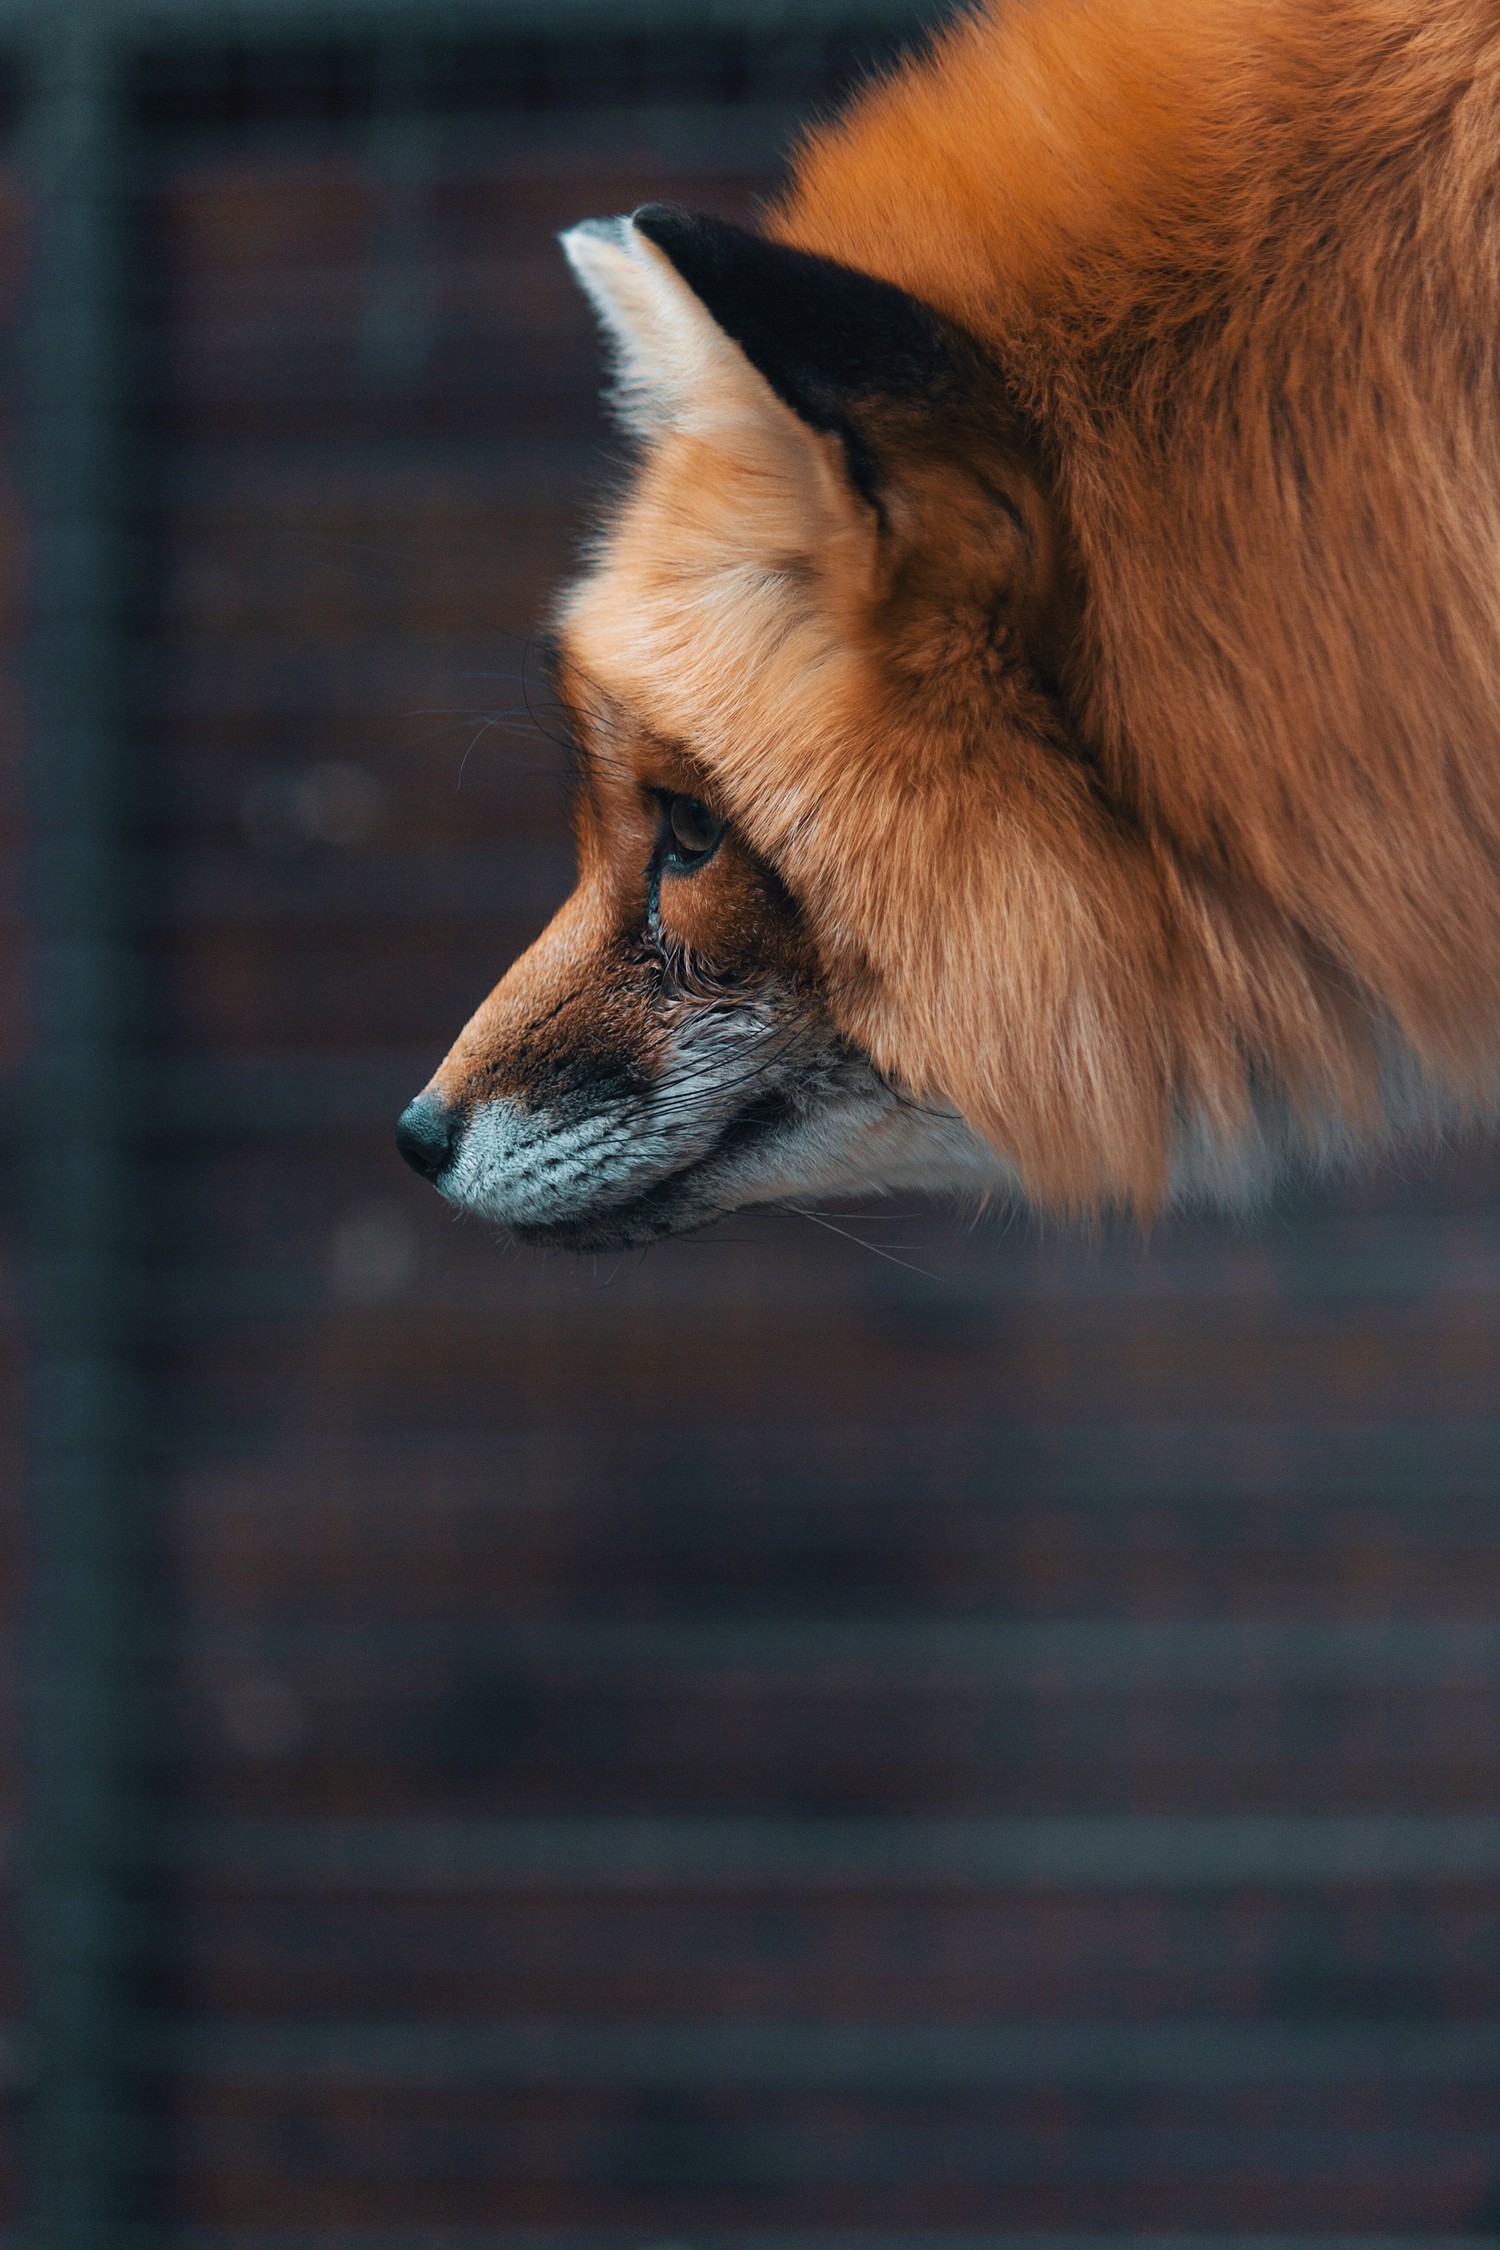
[[[639,441],[555,616],[578,886],[405,1112],[407,1161],[612,1249],[893,1188],[1151,1210],[1316,1148],[1365,1035],[1106,799],[1061,511],[983,349],[661,205],[564,250]]]

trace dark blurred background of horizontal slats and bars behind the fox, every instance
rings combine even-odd
[[[1500,1166],[457,1224],[555,230],[886,0],[0,0],[7,2241],[1500,2236]]]

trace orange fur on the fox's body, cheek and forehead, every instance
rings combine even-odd
[[[564,603],[837,1030],[1052,1208],[1151,1210],[1183,1120],[1232,1170],[1268,1089],[1376,1138],[1392,1058],[1408,1112],[1493,1109],[1498,153],[1493,0],[996,0],[767,220],[958,322],[992,394],[879,410],[877,529],[724,360]]]

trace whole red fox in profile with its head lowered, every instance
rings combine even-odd
[[[564,250],[639,461],[450,1202],[1151,1215],[1493,1114],[1498,0],[990,0],[760,232]]]

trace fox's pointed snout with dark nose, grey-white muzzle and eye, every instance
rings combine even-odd
[[[450,1204],[569,1249],[801,1190],[891,1091],[839,1037],[796,907],[650,776],[585,790],[578,830],[578,891],[403,1112],[400,1154]]]

